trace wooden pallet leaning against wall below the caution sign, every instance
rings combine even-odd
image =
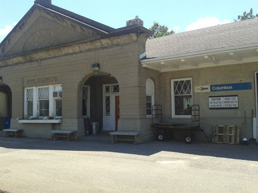
[[[239,144],[239,126],[215,125],[213,143]]]

